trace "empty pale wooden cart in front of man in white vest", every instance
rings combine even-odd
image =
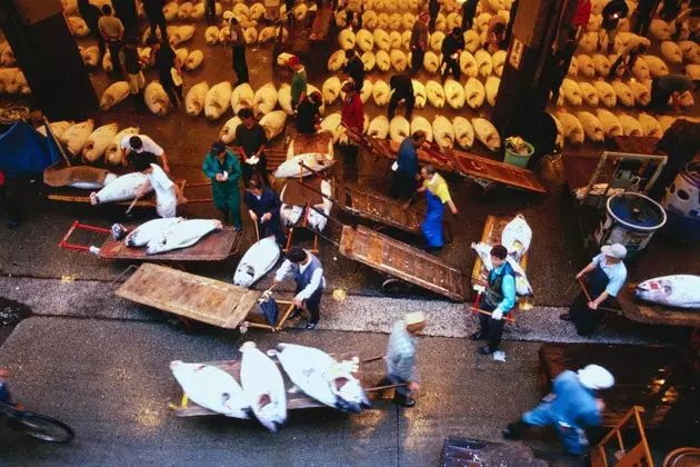
[[[292,306],[276,326],[254,312],[261,292],[163,266],[143,264],[114,292],[137,304],[224,329],[246,326],[280,330]],[[280,301],[278,301],[279,304]]]

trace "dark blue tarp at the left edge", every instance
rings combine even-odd
[[[0,169],[7,177],[41,175],[61,158],[52,138],[19,121],[0,136]]]

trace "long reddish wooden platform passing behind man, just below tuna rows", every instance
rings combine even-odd
[[[400,145],[394,141],[361,136],[352,131],[348,131],[348,136],[371,152],[388,159],[398,157]],[[547,192],[532,171],[520,167],[458,150],[418,149],[416,152],[419,161],[431,163],[438,170],[484,178],[529,191]]]

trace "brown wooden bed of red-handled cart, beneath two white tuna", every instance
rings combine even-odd
[[[128,226],[131,229],[134,226]],[[224,226],[223,230],[213,231],[188,248],[146,255],[146,248],[127,247],[122,240],[108,236],[100,247],[100,257],[106,259],[129,259],[148,261],[221,261],[238,252],[242,232],[234,227]]]

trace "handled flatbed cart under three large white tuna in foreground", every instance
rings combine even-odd
[[[363,376],[364,376],[364,372],[363,372],[364,365],[372,361],[379,361],[383,358],[383,356],[380,356],[380,357],[373,357],[373,358],[368,358],[368,359],[361,359],[357,351],[347,351],[343,354],[336,354],[336,355],[330,354],[330,356],[336,358],[336,360],[338,361],[346,361],[346,360],[351,360],[353,358],[357,358],[358,369],[357,371],[352,372],[352,376],[358,378],[360,381],[362,381]],[[279,360],[273,359],[273,361],[280,368],[280,372],[282,374],[282,378],[284,380],[288,410],[328,407],[319,403],[318,400],[310,398],[301,390],[292,390],[294,388],[294,384],[289,379],[289,376],[287,376],[287,374],[281,369]],[[224,361],[209,361],[209,362],[204,362],[203,365],[211,365],[213,367],[217,367],[228,372],[229,375],[231,375],[233,379],[236,379],[239,384],[241,381],[240,379],[241,360],[240,359],[224,360]],[[374,393],[379,390],[392,389],[399,386],[404,386],[404,385],[364,387],[364,391]],[[219,415],[216,411],[209,410],[202,406],[194,404],[187,397],[186,394],[182,395],[182,398],[179,405],[176,406],[171,404],[170,408],[174,410],[178,417],[201,417],[201,416]]]

